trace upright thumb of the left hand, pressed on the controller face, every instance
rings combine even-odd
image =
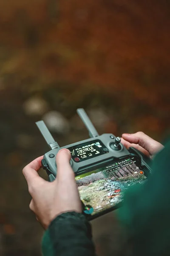
[[[70,180],[70,178],[75,178],[73,169],[70,165],[71,153],[68,149],[60,149],[57,157],[57,180]]]

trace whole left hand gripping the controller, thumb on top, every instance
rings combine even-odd
[[[38,175],[41,160],[38,157],[23,169],[32,197],[30,209],[42,226],[47,229],[51,221],[63,212],[82,212],[82,205],[70,166],[71,154],[68,149],[61,149],[57,154],[57,179],[48,182]]]

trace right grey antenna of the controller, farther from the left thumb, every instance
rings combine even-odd
[[[88,117],[87,113],[85,112],[85,110],[83,108],[78,108],[77,113],[78,113],[79,117],[82,119],[82,122],[85,124],[86,128],[88,129],[89,136],[91,138],[98,137],[99,134],[96,131],[96,128],[92,124],[92,122],[91,122],[90,118]]]

